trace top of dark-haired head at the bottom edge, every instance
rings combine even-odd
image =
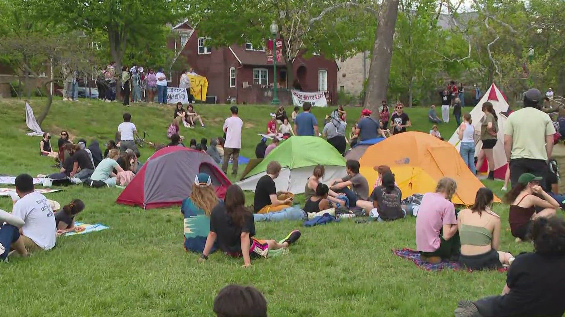
[[[267,301],[252,286],[230,284],[214,298],[214,312],[218,317],[267,317]]]

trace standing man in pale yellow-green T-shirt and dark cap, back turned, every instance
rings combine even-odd
[[[540,110],[541,99],[539,90],[529,89],[524,93],[524,108],[512,112],[506,122],[504,149],[512,187],[524,173],[547,177],[547,160],[553,151],[555,127],[547,113]],[[541,184],[545,186],[545,182]]]

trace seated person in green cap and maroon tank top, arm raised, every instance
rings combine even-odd
[[[528,239],[534,219],[551,217],[557,213],[555,210],[559,208],[559,203],[541,188],[542,179],[530,173],[521,174],[518,184],[504,196],[504,201],[510,204],[508,221],[516,242]],[[536,207],[541,210],[536,210]]]

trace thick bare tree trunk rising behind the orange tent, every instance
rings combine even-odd
[[[388,91],[398,2],[399,0],[383,0],[379,11],[379,24],[375,34],[364,102],[364,107],[371,109],[373,113],[379,111],[380,101],[386,99]]]

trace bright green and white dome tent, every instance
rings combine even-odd
[[[282,166],[279,177],[275,179],[277,190],[295,194],[304,192],[306,180],[318,164],[325,167],[325,182],[345,176],[345,158],[326,140],[316,137],[290,137],[274,148],[237,184],[245,191],[255,191],[259,178],[267,174],[270,161],[278,161]]]

